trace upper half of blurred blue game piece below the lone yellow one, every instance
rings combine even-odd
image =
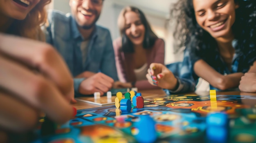
[[[211,113],[206,117],[206,124],[208,126],[228,126],[228,115],[225,113]]]

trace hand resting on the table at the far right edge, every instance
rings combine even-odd
[[[239,89],[242,92],[256,92],[256,73],[245,73],[241,77]]]

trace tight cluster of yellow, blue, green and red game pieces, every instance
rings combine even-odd
[[[141,96],[141,93],[137,93],[134,90],[126,92],[124,98],[122,92],[117,92],[115,106],[116,108],[120,108],[122,112],[130,112],[132,106],[144,108],[144,98]]]

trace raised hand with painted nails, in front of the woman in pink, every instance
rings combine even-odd
[[[146,77],[150,84],[159,86],[160,88],[172,90],[176,87],[177,84],[177,79],[173,73],[163,64],[150,64],[150,68],[148,69],[148,74]]]

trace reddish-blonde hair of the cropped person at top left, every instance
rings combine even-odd
[[[13,27],[18,30],[17,34],[22,37],[45,41],[45,37],[43,36],[44,34],[40,26],[47,22],[45,5],[50,2],[51,0],[40,0],[24,20],[18,20]]]

